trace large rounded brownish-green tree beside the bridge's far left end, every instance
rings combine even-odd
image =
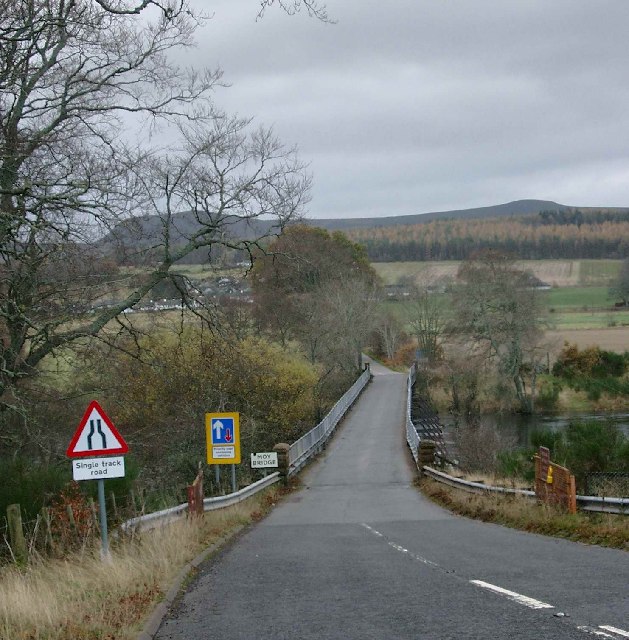
[[[377,277],[364,251],[341,233],[290,226],[252,274],[255,313],[284,344],[297,341],[312,363],[360,367],[374,321]]]

